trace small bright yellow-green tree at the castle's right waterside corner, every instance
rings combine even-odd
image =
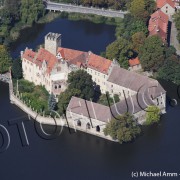
[[[146,113],[146,125],[160,121],[160,109],[157,106],[149,106]]]

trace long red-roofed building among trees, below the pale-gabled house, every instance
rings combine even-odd
[[[151,15],[148,25],[149,36],[158,35],[164,43],[168,36],[168,16],[160,9]]]

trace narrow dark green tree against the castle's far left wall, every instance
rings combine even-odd
[[[15,79],[22,78],[22,61],[20,58],[13,60],[12,63],[12,75]]]

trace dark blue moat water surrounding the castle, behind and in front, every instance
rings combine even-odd
[[[35,49],[49,31],[63,34],[64,47],[91,50],[97,54],[115,39],[113,26],[57,19],[37,25],[33,31],[23,30],[21,39],[11,47],[12,55],[18,57],[26,46]],[[167,82],[162,85],[169,98],[178,99],[176,86]],[[70,134],[68,129],[54,140],[44,140],[37,135],[33,121],[29,121],[25,122],[29,146],[22,147],[17,127],[9,126],[7,121],[28,117],[9,103],[7,84],[0,83],[0,92],[0,124],[7,128],[11,137],[8,150],[0,154],[2,180],[14,177],[26,180],[54,177],[128,180],[132,171],[180,173],[179,101],[176,107],[167,102],[167,114],[162,116],[161,123],[144,128],[143,135],[133,143],[120,145],[82,132]],[[48,126],[46,129],[51,131]]]

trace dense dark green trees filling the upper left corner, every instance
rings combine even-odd
[[[42,0],[1,0],[0,44],[8,45],[19,29],[32,25],[45,15]]]

